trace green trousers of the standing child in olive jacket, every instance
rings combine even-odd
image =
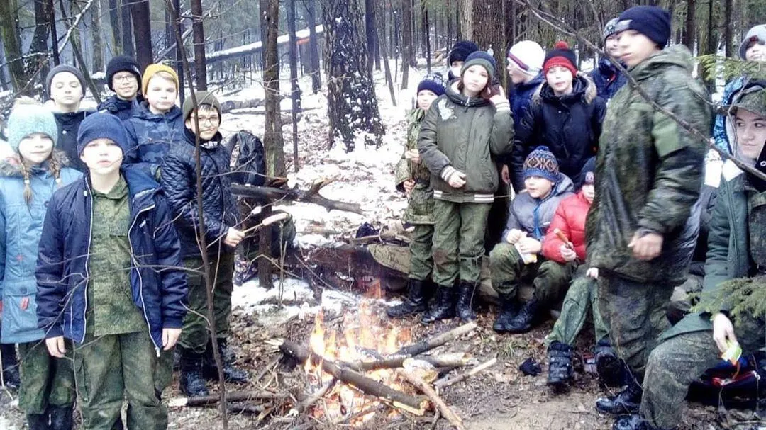
[[[478,284],[484,254],[484,230],[491,204],[434,202],[434,275],[441,287],[451,288],[458,275]]]

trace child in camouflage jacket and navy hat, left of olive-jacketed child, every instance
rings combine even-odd
[[[410,274],[407,285],[408,297],[401,305],[389,308],[390,318],[401,318],[426,311],[430,295],[430,274],[434,269],[431,245],[434,243],[434,189],[430,186],[430,172],[421,163],[417,151],[417,135],[421,122],[431,103],[444,94],[441,75],[425,77],[417,85],[417,107],[411,112],[404,154],[396,165],[396,187],[408,194],[407,213],[404,220],[414,225],[410,243]]]

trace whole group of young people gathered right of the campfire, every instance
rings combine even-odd
[[[707,240],[705,289],[761,273],[755,247],[766,232],[758,224],[766,181],[727,161],[715,209],[700,199],[705,142],[676,119],[704,132],[712,112],[689,50],[666,46],[667,11],[630,8],[603,36],[607,57],[589,75],[565,42],[547,53],[534,41],[513,45],[509,99],[496,85],[493,57],[470,41],[450,52],[447,83],[439,75],[421,81],[396,174],[409,197],[405,221],[414,226],[410,281],[388,314],[473,320],[489,251],[501,301],[496,331],[529,331],[542,309],[562,303],[545,339],[549,384],[571,381],[572,347],[592,308],[599,376],[624,387],[598,399],[597,409],[626,414],[614,424],[620,430],[674,428],[686,387],[715,363],[716,350],[737,343],[738,326],[722,308],[689,314],[665,331],[670,295],[689,273],[698,237]],[[766,60],[764,46],[766,25],[759,25],[740,56]],[[766,171],[766,82],[734,80],[723,103],[728,115],[716,120],[715,142]],[[515,197],[500,243],[489,250],[484,233],[499,178]],[[700,220],[709,232],[699,233]],[[532,285],[531,298],[519,294],[522,283]],[[763,347],[762,328],[760,337],[743,336]],[[766,364],[758,367],[766,375]]]

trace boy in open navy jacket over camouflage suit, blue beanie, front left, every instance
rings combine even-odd
[[[51,199],[35,272],[38,324],[53,357],[70,351],[87,430],[167,428],[155,373],[172,360],[187,308],[169,205],[152,177],[120,168],[126,142],[116,116],[82,122],[89,172]]]

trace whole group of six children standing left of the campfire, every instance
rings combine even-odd
[[[167,428],[174,350],[182,392],[205,395],[205,379],[218,379],[211,337],[226,380],[247,381],[227,348],[245,233],[218,100],[200,91],[196,107],[188,97],[179,108],[175,70],[142,73],[130,57],[110,61],[106,82],[114,94],[83,110],[80,71],[54,67],[50,99],[18,99],[5,129],[15,154],[0,162],[2,376],[34,430],[72,428],[75,403],[82,428]]]

